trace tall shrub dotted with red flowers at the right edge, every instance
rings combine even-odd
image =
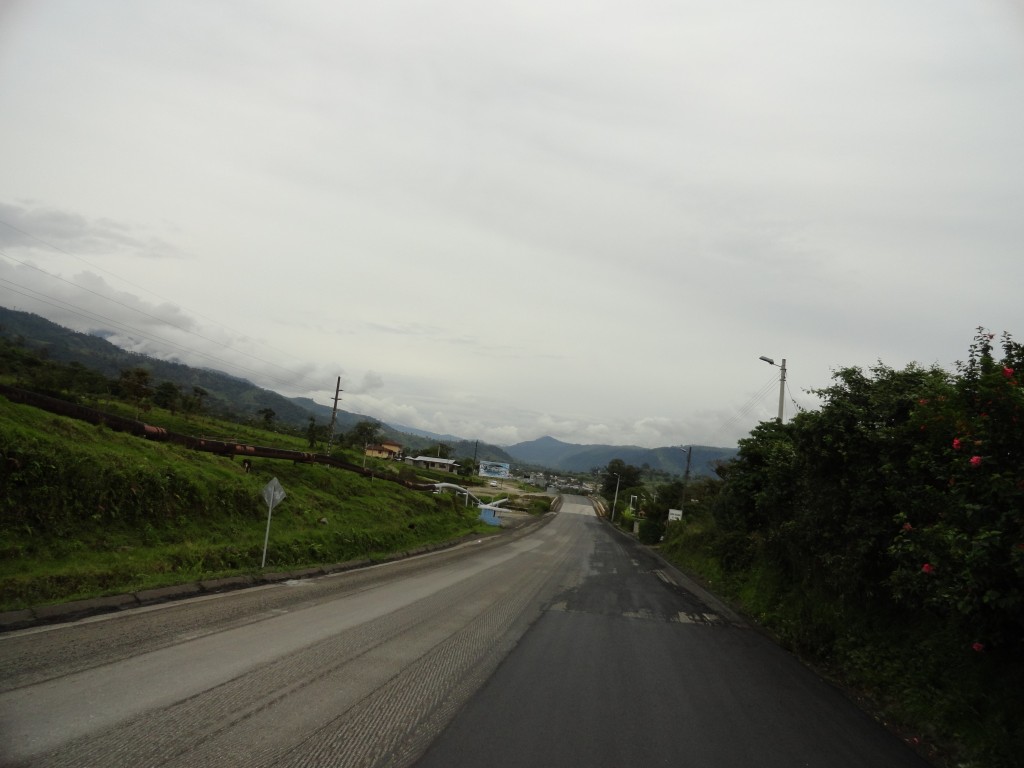
[[[1024,635],[1024,347],[1005,334],[997,361],[993,338],[979,330],[957,375],[914,409],[910,466],[927,503],[898,512],[890,548],[894,597],[984,633],[977,645]],[[921,578],[925,561],[941,566],[932,579]]]

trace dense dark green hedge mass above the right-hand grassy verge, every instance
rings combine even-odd
[[[793,583],[1024,638],[1024,347],[979,331],[950,374],[844,369],[817,412],[740,440],[715,509]]]

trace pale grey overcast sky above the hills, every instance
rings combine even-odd
[[[287,395],[732,445],[1022,295],[1019,0],[0,2],[0,304]]]

